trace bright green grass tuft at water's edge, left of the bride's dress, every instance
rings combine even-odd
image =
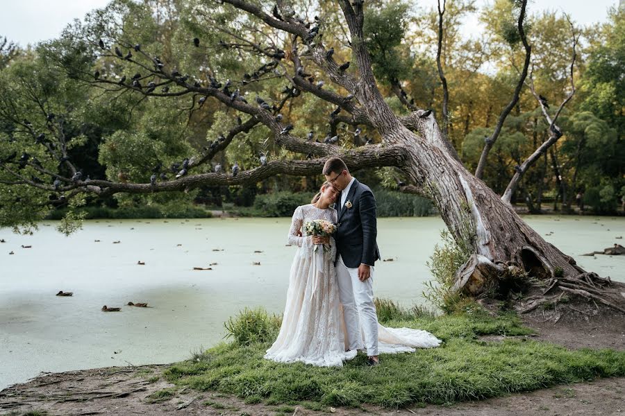
[[[235,318],[229,318],[224,325],[226,338],[233,338],[240,346],[254,343],[268,343],[278,336],[282,317],[269,315],[264,308],[245,308]]]

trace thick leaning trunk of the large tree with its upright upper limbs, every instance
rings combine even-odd
[[[405,150],[405,159],[399,167],[420,193],[434,201],[456,241],[467,239],[475,254],[495,263],[513,261],[534,275],[554,277],[560,269],[563,275],[583,272],[571,257],[544,241],[497,193],[452,156],[449,143],[431,112],[412,113],[412,128],[416,132],[408,130],[397,119],[377,88],[371,60],[362,42],[362,11],[354,10],[347,1],[340,4],[351,35],[358,40],[352,47],[360,79],[345,80],[325,60],[322,48],[313,50],[313,59],[336,83],[342,83],[363,103],[363,110],[380,132],[383,144]]]

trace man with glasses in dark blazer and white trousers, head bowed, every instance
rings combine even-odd
[[[328,159],[323,173],[341,191],[336,202],[340,225],[334,238],[347,347],[366,348],[367,363],[378,365],[378,316],[372,286],[374,263],[380,259],[376,244],[376,200],[371,189],[351,176],[345,162],[338,157]]]

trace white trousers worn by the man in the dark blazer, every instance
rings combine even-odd
[[[378,315],[373,295],[374,268],[371,277],[358,279],[358,268],[349,268],[339,255],[336,261],[339,297],[343,307],[347,349],[367,349],[368,356],[378,355]],[[364,339],[363,339],[364,338]]]

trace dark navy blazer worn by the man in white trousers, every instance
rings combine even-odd
[[[343,263],[349,268],[356,268],[360,263],[374,266],[380,259],[380,250],[376,243],[378,228],[376,223],[376,198],[365,184],[357,179],[353,180],[345,204],[351,202],[351,207],[342,207],[340,195],[336,204],[339,227],[334,239],[337,254],[340,254]]]

